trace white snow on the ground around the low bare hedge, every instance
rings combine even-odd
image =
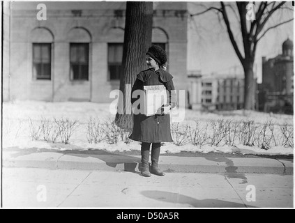
[[[56,150],[88,150],[103,149],[105,151],[139,151],[140,144],[137,141],[131,141],[125,144],[119,141],[117,144],[107,144],[102,141],[98,144],[89,144],[86,137],[86,123],[89,118],[99,120],[114,119],[114,114],[109,110],[109,103],[93,103],[93,102],[37,102],[37,101],[16,101],[3,102],[3,148],[17,146],[19,148],[47,148]],[[174,111],[173,117],[176,117],[178,111]],[[180,113],[179,113],[180,114]],[[77,120],[80,125],[73,132],[70,138],[70,144],[62,144],[60,139],[55,143],[47,143],[42,140],[32,140],[30,135],[29,119],[31,121],[40,121],[43,118],[70,118]],[[176,118],[177,119],[177,118]],[[174,120],[176,120],[174,119]],[[206,123],[211,120],[253,120],[255,123],[264,123],[273,121],[280,124],[287,122],[293,125],[293,116],[283,114],[264,114],[261,112],[197,112],[186,109],[185,118],[181,124],[193,124],[195,120]],[[202,147],[186,144],[184,146],[176,146],[172,143],[165,143],[161,148],[161,153],[179,153],[181,151],[190,152],[222,152],[222,153],[241,153],[241,154],[266,154],[266,155],[290,155],[293,154],[293,148],[283,146],[273,146],[272,148],[262,150],[257,146],[210,146]]]

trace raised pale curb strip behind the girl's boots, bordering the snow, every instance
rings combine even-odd
[[[138,171],[140,156],[116,155],[107,151],[50,151],[4,149],[3,167],[43,169],[78,169],[103,171]],[[208,157],[160,155],[160,168],[165,172],[293,174],[293,159],[266,157]]]

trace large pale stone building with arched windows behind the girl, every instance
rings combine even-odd
[[[48,1],[45,12],[39,2],[4,5],[3,100],[114,100],[126,2]],[[154,3],[152,42],[166,49],[168,71],[183,90],[187,24],[186,2]]]

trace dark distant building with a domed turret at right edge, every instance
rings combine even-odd
[[[262,84],[259,84],[259,111],[293,114],[293,42],[285,40],[282,54],[262,58]]]

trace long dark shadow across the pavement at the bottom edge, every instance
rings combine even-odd
[[[218,199],[198,200],[186,195],[159,190],[146,190],[143,191],[142,194],[150,199],[165,201],[168,203],[188,204],[194,208],[257,208],[255,206],[245,205],[244,203],[222,201]]]

